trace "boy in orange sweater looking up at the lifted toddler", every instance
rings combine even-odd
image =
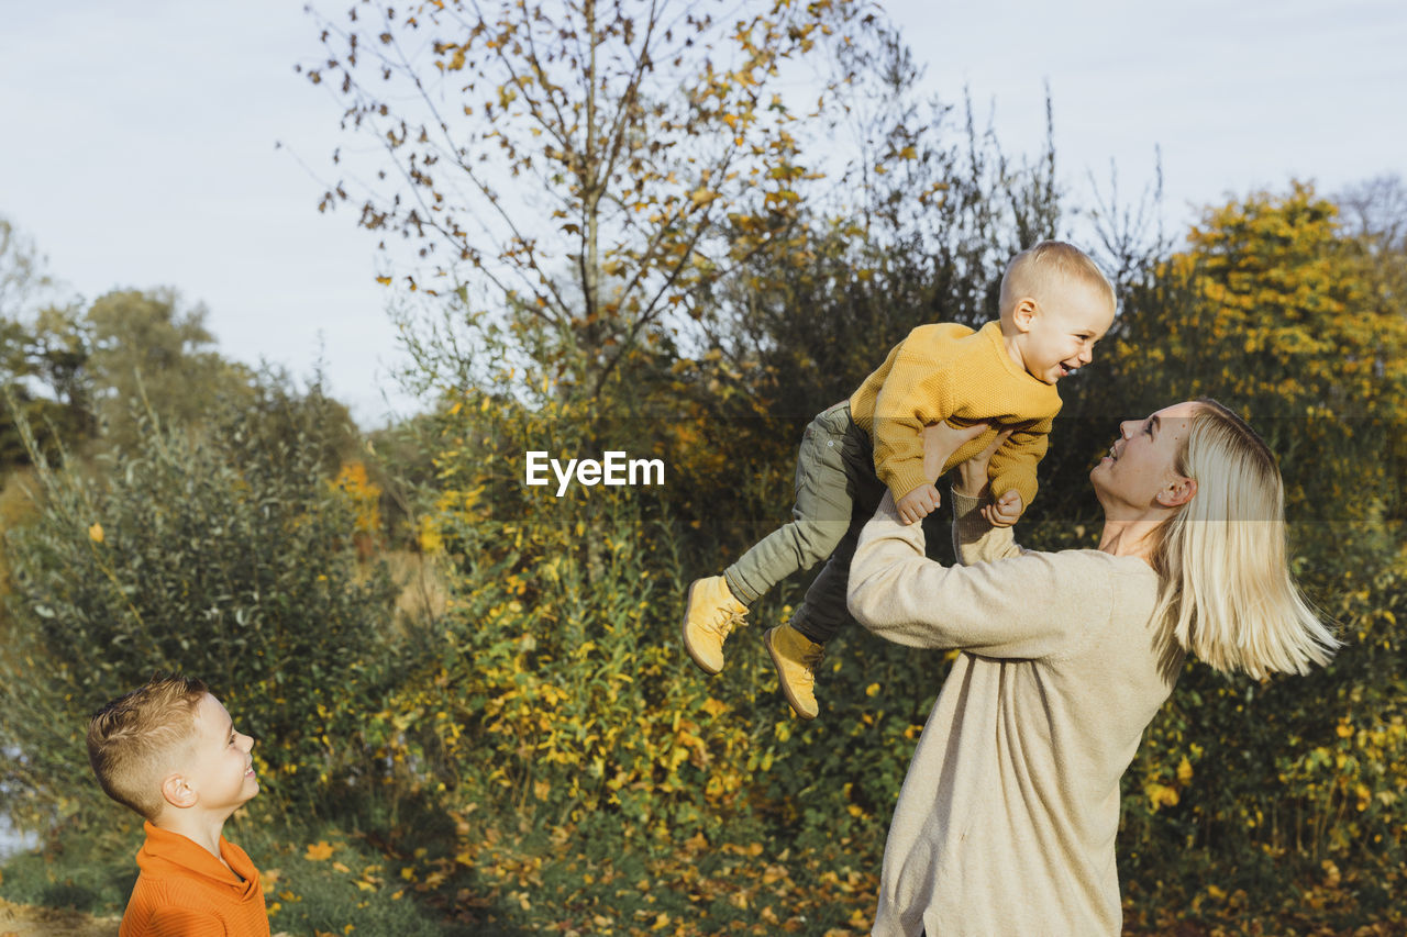
[[[198,680],[153,677],[89,723],[103,791],[146,822],[118,937],[269,937],[259,869],[221,834],[259,793],[229,713]]]

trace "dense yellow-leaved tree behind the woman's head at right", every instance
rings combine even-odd
[[[1309,184],[1209,208],[1127,307],[1109,367],[1126,400],[1217,397],[1263,419],[1292,467],[1344,421],[1403,415],[1407,318]]]

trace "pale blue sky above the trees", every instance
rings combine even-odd
[[[350,6],[319,0],[333,15]],[[1169,229],[1292,179],[1331,194],[1407,173],[1400,0],[895,0],[944,101],[971,96],[1003,149],[1055,121],[1068,203],[1147,186],[1161,152]],[[234,359],[322,369],[363,428],[414,412],[376,238],[319,214],[349,144],[298,0],[0,0],[0,215],[96,298],[174,287]]]

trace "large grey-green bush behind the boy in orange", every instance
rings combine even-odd
[[[0,784],[17,820],[96,791],[87,715],[158,670],[203,678],[255,736],[269,808],[317,809],[376,772],[362,713],[394,678],[395,591],[357,564],[328,412],[317,390],[265,381],[198,433],[146,421],[91,467],[39,460],[39,514],[7,542],[0,746],[23,754]]]

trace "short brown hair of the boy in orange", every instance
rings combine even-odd
[[[93,713],[89,764],[107,796],[148,820],[156,817],[165,761],[193,737],[196,709],[207,692],[193,677],[156,674]]]

